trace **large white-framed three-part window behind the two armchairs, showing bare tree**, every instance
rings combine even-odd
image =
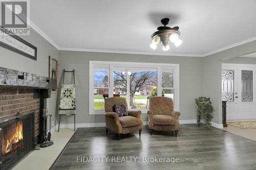
[[[104,114],[104,98],[114,95],[125,98],[129,110],[146,113],[151,96],[172,98],[179,110],[178,83],[179,64],[90,61],[90,114]]]

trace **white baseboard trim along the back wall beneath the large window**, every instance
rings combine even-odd
[[[196,119],[190,119],[190,120],[179,120],[180,124],[196,124],[197,120]],[[143,125],[146,126],[148,125],[148,122],[143,122]],[[76,124],[76,128],[96,128],[96,127],[105,127],[106,123],[83,123],[83,124]],[[55,126],[58,128],[58,125]],[[54,127],[54,130],[55,130]],[[59,128],[74,128],[74,124],[60,124]],[[52,128],[53,129],[53,128]]]

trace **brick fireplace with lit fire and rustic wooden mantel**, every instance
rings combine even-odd
[[[56,88],[56,79],[0,67],[0,169],[46,141],[43,110]]]

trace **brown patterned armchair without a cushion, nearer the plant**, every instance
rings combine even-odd
[[[150,134],[152,135],[152,130],[174,131],[177,137],[180,112],[174,111],[173,100],[165,97],[150,98],[149,109],[147,114]]]

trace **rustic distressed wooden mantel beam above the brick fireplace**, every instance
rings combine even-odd
[[[56,89],[57,80],[0,67],[0,88]]]

